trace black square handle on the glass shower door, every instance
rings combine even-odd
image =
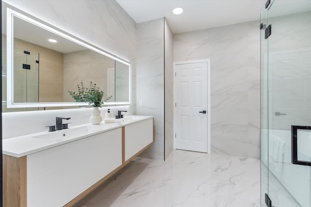
[[[298,160],[297,150],[297,129],[311,130],[311,126],[295,126],[292,125],[292,163],[296,165],[311,166],[311,162]]]

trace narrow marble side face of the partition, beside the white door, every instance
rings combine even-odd
[[[164,93],[165,93],[165,141],[164,159],[173,150],[173,33],[164,20]]]

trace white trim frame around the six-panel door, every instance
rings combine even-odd
[[[177,64],[192,64],[192,63],[207,63],[207,153],[210,153],[210,59],[200,59],[200,60],[189,60],[189,61],[178,61],[173,62],[173,148],[175,147],[175,135],[176,135],[176,93],[177,93],[177,83],[176,83],[176,65]]]

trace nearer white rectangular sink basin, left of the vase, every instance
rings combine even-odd
[[[36,139],[72,139],[76,137],[83,136],[90,132],[89,127],[75,127],[75,128],[68,128],[59,131],[53,132],[46,132],[46,134],[41,134],[37,136],[33,136]]]

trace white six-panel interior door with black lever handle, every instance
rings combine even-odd
[[[209,152],[208,72],[209,60],[175,63],[175,149]]]

